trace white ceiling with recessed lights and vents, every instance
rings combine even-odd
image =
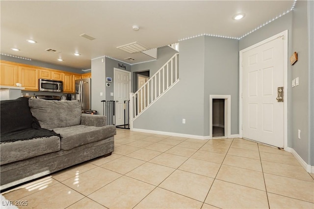
[[[116,47],[138,42],[152,49],[200,34],[239,38],[292,5],[293,0],[1,0],[0,51],[79,69],[90,69],[91,59],[104,55],[119,60],[131,57],[135,60],[127,62],[137,63],[152,58]],[[235,21],[236,13],[245,17]],[[133,31],[133,25],[140,29]],[[79,36],[82,33],[96,39]],[[61,52],[45,52],[48,48]],[[57,61],[59,57],[64,61]]]

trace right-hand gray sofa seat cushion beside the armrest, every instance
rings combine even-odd
[[[70,126],[53,129],[56,133],[60,133],[61,150],[71,150],[75,147],[91,142],[99,141],[116,134],[115,126]]]

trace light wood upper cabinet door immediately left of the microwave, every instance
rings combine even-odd
[[[26,65],[20,65],[19,68],[21,74],[19,83],[22,83],[25,90],[38,91],[38,69]]]

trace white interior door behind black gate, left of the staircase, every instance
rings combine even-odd
[[[114,69],[115,125],[124,125],[124,101],[130,99],[131,72]]]

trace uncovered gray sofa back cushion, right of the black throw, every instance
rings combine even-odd
[[[53,129],[80,124],[81,107],[78,100],[52,101],[29,99],[30,111],[41,128]]]

